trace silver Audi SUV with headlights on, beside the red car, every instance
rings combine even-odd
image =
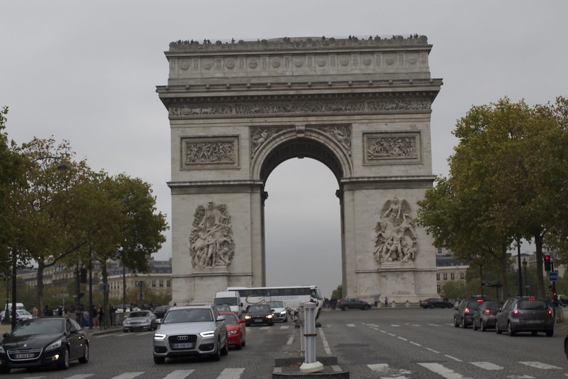
[[[166,358],[210,356],[219,361],[229,353],[225,316],[210,305],[176,306],[168,310],[154,333],[154,363]]]

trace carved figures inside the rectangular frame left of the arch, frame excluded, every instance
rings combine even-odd
[[[237,163],[237,139],[183,139],[183,163],[186,167],[201,164]]]

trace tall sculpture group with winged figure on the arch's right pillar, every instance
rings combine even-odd
[[[414,220],[410,217],[408,201],[396,196],[382,206],[380,220],[375,226],[375,260],[383,262],[412,262],[417,252]]]

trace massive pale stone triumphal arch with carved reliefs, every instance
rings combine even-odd
[[[344,296],[434,296],[434,247],[414,223],[434,180],[431,49],[417,35],[171,43],[157,92],[171,125],[172,301],[265,284],[264,183],[303,156],[338,180]]]

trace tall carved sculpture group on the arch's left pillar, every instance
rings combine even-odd
[[[227,205],[210,201],[199,205],[189,234],[189,255],[193,268],[227,267],[235,255],[231,217]]]

